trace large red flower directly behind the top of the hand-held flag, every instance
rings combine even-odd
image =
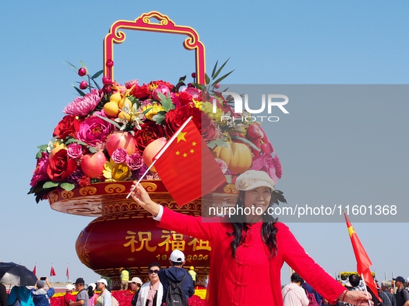
[[[192,107],[189,105],[181,106],[175,108],[165,117],[165,133],[168,137],[172,137],[174,132],[178,130],[179,127],[185,122],[188,117],[192,116],[192,121],[196,125],[199,132],[201,132],[201,111],[199,108]]]

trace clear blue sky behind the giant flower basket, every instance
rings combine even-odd
[[[134,20],[158,10],[176,24],[191,26],[206,46],[208,70],[230,58],[230,84],[408,84],[409,4],[405,1],[8,1],[2,4],[1,224],[6,246],[0,260],[21,262],[65,280],[97,279],[75,254],[78,233],[91,218],[53,211],[26,195],[37,146],[51,138],[71,84],[80,78],[65,61],[91,72],[102,69],[102,40],[119,19]],[[116,46],[120,82],[176,82],[194,68],[182,37],[135,32]],[[404,90],[403,90],[404,91]],[[403,93],[404,96],[404,93]],[[307,101],[307,100],[306,100]],[[408,183],[408,129],[404,99],[354,105],[338,99],[289,103],[290,114],[269,137],[280,155],[284,178],[278,188],[289,205],[309,200],[403,203]],[[305,113],[304,113],[305,112]],[[346,196],[347,194],[347,196]],[[390,251],[407,223],[358,223],[355,230],[383,279],[409,276]],[[307,252],[330,274],[352,271],[355,260],[345,223],[289,224]],[[283,282],[288,282],[287,269]]]

